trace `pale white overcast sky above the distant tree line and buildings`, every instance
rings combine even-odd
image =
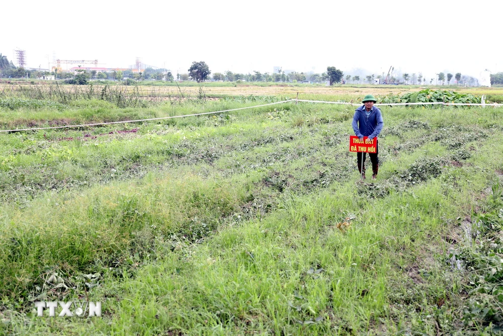
[[[377,76],[393,65],[428,82],[438,72],[503,71],[499,1],[7,1],[0,52],[14,60],[14,49],[26,50],[33,68],[55,52],[107,68],[138,56],[174,74],[201,60],[212,73],[336,66]]]

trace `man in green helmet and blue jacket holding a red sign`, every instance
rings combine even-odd
[[[353,117],[353,130],[355,135],[363,139],[363,137],[368,137],[369,140],[376,138],[382,130],[384,121],[382,120],[381,110],[374,106],[377,100],[372,95],[366,95],[363,98],[363,105],[356,109],[355,116]],[[379,147],[376,147],[375,153],[369,153],[370,161],[372,162],[372,178],[377,177],[377,171],[379,170],[379,159],[377,154],[379,152]],[[367,153],[358,152],[356,153],[358,161],[358,170],[362,174],[362,178],[365,178],[365,157]]]

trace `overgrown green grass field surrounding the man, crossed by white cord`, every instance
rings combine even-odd
[[[0,127],[369,92],[211,89],[226,98],[2,108]],[[348,152],[346,105],[0,133],[0,333],[498,332],[503,110],[382,112],[375,181]],[[102,317],[34,309],[79,300],[100,301]]]

